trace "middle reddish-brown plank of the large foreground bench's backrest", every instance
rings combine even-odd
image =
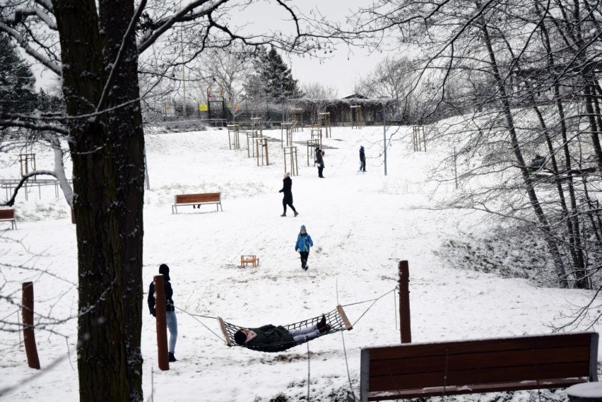
[[[453,370],[487,367],[517,367],[567,362],[589,362],[589,348],[544,348],[533,350],[508,350],[465,355],[406,357],[403,359],[372,360],[372,375],[406,374],[439,370],[446,365]]]

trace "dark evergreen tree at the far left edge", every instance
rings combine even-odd
[[[35,77],[8,35],[0,32],[0,110],[30,112],[37,105]]]

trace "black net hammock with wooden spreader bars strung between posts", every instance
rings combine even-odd
[[[349,320],[347,319],[345,311],[343,311],[343,307],[341,307],[341,305],[336,306],[336,309],[332,310],[328,314],[324,314],[324,316],[326,317],[326,324],[329,324],[331,326],[331,329],[329,331],[321,333],[320,336],[324,336],[329,333],[335,333],[335,332],[343,331],[343,330],[351,331],[353,329],[353,326],[351,326]],[[307,328],[309,326],[317,325],[318,321],[321,319],[321,317],[322,316],[320,314],[318,317],[306,319],[304,321],[295,322],[295,324],[283,325],[283,327],[285,329],[287,329],[288,331],[293,331],[295,329]],[[309,339],[304,339],[302,341],[238,345],[234,341],[234,334],[239,329],[243,329],[243,328],[247,328],[247,327],[230,324],[229,322],[224,321],[221,317],[218,317],[218,321],[220,323],[220,328],[222,329],[222,333],[226,339],[226,345],[228,345],[228,347],[242,346],[243,348],[247,348],[247,349],[251,349],[251,350],[273,353],[273,352],[282,352],[283,350],[287,350],[288,348],[293,348],[294,346],[301,345],[302,343],[309,341]],[[319,338],[319,336],[317,338]],[[316,339],[316,338],[313,338],[313,339]]]

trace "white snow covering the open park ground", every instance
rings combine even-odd
[[[313,401],[330,400],[329,394],[348,389],[348,376],[358,392],[360,349],[399,343],[398,300],[391,291],[400,260],[409,261],[414,342],[550,333],[561,312],[586,304],[593,295],[455,270],[434,253],[457,235],[456,227],[480,230],[485,225],[476,213],[415,208],[432,205],[431,191],[436,190],[435,199],[453,194],[453,186],[427,181],[430,168],[449,155],[444,143],[414,153],[411,128],[402,128],[387,148],[384,176],[382,126],[334,128],[332,138],[323,140],[325,179],[317,177],[313,164],[307,167],[307,148],[297,144],[300,174],[292,178],[300,215],[293,218],[289,210],[281,218],[281,134],[264,134],[278,139],[268,142],[269,166],[247,158],[244,136],[242,148],[230,150],[225,130],[147,131],[151,189],[144,196],[144,287],[148,290],[159,264],[170,266],[179,338],[178,361],[169,371],[158,370],[155,321],[145,294],[146,400],[152,394],[155,401],[246,402],[284,394],[297,401],[307,396],[308,374]],[[309,130],[294,136],[305,141]],[[361,145],[368,158],[366,175],[357,174]],[[52,169],[52,150],[35,146],[32,151],[37,169]],[[18,177],[19,152],[0,155],[1,179]],[[65,162],[70,171],[70,160]],[[20,333],[5,324],[0,390],[11,389],[0,391],[0,398],[73,401],[78,398],[76,227],[64,197],[55,199],[54,187],[42,188],[41,199],[37,191],[31,189],[28,200],[24,194],[17,197],[18,230],[0,223],[0,230],[8,228],[0,232],[0,318],[16,323],[20,284],[33,280],[42,370],[27,367]],[[171,214],[175,194],[213,191],[222,192],[223,212],[208,205],[180,207],[179,214]],[[300,268],[294,250],[301,225],[314,240],[308,271]],[[240,268],[241,254],[256,254],[259,266]],[[377,297],[382,298],[368,309],[372,303],[365,301]],[[316,317],[337,304],[350,305],[345,310],[353,331],[276,354],[228,348],[216,319],[188,314],[219,316],[243,326],[278,325]]]

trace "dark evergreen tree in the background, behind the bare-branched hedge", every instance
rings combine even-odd
[[[274,47],[270,50],[260,48],[253,64],[255,71],[247,78],[247,83],[244,85],[247,95],[271,99],[278,99],[281,95],[302,97],[303,93],[297,85],[297,80],[293,79],[291,69]]]

